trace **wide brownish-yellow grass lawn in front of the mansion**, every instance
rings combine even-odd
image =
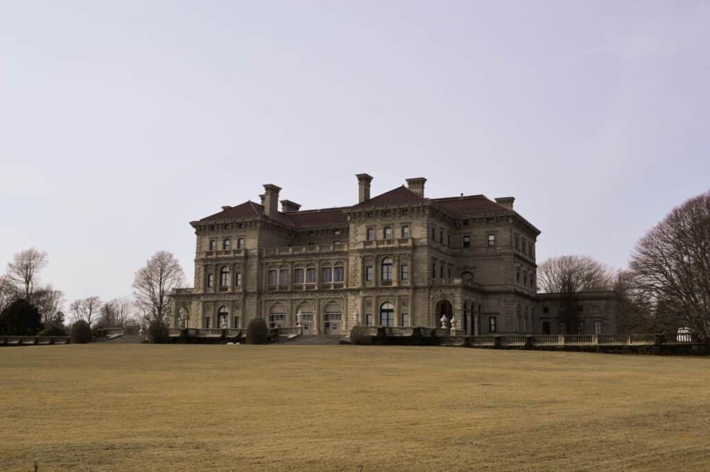
[[[0,470],[710,470],[710,358],[0,348]]]

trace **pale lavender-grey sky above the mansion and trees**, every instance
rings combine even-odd
[[[516,198],[537,257],[623,268],[710,190],[707,1],[3,1],[0,264],[131,294],[189,221],[258,202]],[[2,269],[4,271],[4,268]]]

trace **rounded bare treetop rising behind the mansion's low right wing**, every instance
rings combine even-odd
[[[547,293],[611,290],[611,270],[589,256],[558,256],[537,266],[537,286]]]

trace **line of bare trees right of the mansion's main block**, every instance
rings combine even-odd
[[[578,292],[613,290],[620,331],[691,329],[710,339],[710,192],[672,209],[611,270],[588,256],[558,256],[537,268],[538,288],[574,303]],[[574,313],[573,309],[565,312]]]

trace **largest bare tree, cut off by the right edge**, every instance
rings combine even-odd
[[[629,264],[657,317],[710,336],[710,192],[676,207],[638,241]]]

